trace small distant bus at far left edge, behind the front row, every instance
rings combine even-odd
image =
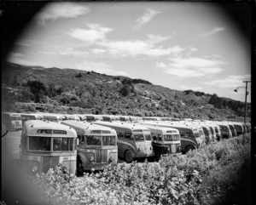
[[[2,123],[7,131],[19,131],[22,129],[22,121],[19,113],[2,112]]]

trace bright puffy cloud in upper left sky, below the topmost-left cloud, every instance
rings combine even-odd
[[[98,24],[86,24],[89,27],[89,30],[80,29],[80,28],[74,28],[71,29],[68,34],[71,37],[74,37],[80,41],[83,41],[84,43],[96,43],[96,41],[103,40],[106,37],[106,34],[112,29],[108,27],[102,27]]]

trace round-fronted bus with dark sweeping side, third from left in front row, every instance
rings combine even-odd
[[[118,155],[132,162],[135,158],[154,157],[150,131],[143,125],[126,122],[93,122],[115,129],[118,134]]]

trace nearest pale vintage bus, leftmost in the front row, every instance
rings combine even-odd
[[[73,128],[55,122],[29,120],[20,140],[20,165],[28,174],[47,173],[58,164],[76,173],[77,134]]]

